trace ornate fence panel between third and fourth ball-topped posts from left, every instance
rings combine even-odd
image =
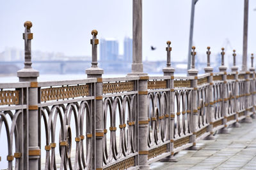
[[[191,135],[193,122],[193,77],[174,77],[174,127],[173,148],[179,152],[192,146]]]

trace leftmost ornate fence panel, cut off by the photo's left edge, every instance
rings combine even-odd
[[[0,169],[28,169],[29,87],[29,82],[0,83]]]

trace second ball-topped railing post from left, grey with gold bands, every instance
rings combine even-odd
[[[92,169],[102,169],[103,167],[103,147],[102,139],[104,136],[103,123],[102,123],[102,74],[103,69],[98,67],[97,61],[97,30],[92,31],[92,67],[86,69],[88,78],[97,78],[94,89],[92,89],[92,96],[95,100],[92,104]]]

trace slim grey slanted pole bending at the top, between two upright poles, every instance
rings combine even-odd
[[[189,31],[189,45],[188,45],[188,70],[191,68],[191,47],[193,43],[193,29],[195,18],[195,4],[198,0],[192,0],[191,4],[191,16],[190,16],[190,31]]]

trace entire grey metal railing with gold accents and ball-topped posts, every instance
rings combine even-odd
[[[193,47],[189,76],[173,76],[168,59],[164,76],[102,78],[97,31],[88,78],[38,82],[38,72],[29,67],[31,26],[25,26],[20,82],[0,83],[0,133],[6,139],[1,147],[8,148],[0,156],[8,169],[140,169],[173,161],[180,150],[196,149],[199,139],[214,139],[216,131],[255,117],[253,67],[238,72],[234,66],[227,73],[222,63],[212,73],[208,59],[198,76]]]

